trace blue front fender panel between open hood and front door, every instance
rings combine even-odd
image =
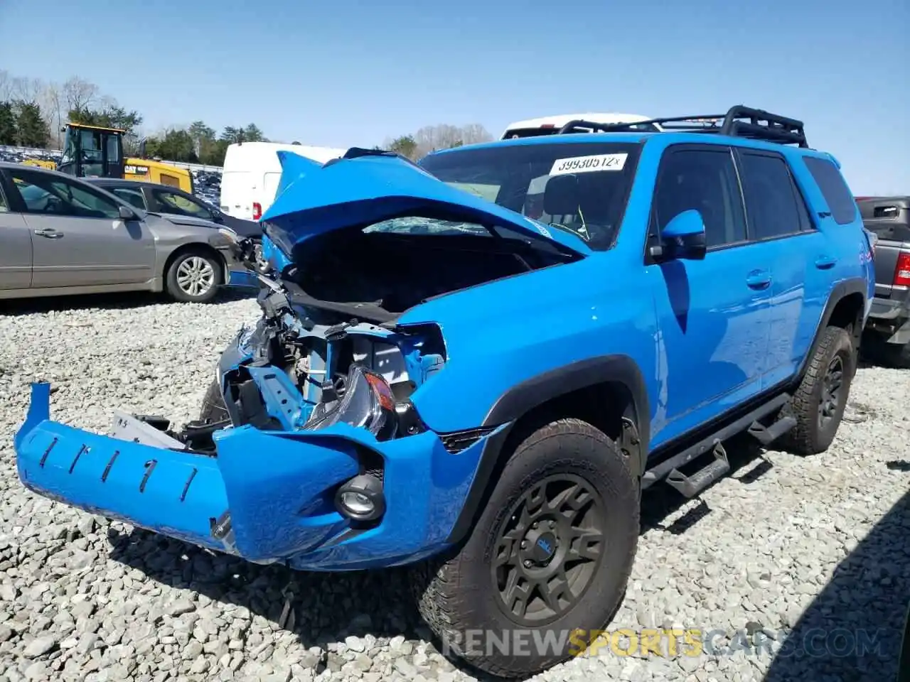
[[[501,424],[532,403],[603,380],[626,384],[640,419],[650,421],[657,337],[649,285],[640,270],[637,281],[604,279],[605,265],[591,256],[413,308],[402,324],[432,321],[446,345],[445,366],[411,396],[427,426],[447,433]],[[591,284],[566,295],[567,280]],[[628,288],[642,295],[628,296]]]

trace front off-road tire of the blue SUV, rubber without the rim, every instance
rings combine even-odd
[[[596,519],[602,527],[601,558],[574,606],[552,622],[533,628],[540,631],[537,637],[500,606],[491,559],[510,510],[524,493],[554,475],[576,476],[599,496],[600,505],[591,508],[600,512]],[[609,437],[573,418],[537,428],[512,451],[460,550],[412,569],[411,586],[420,615],[444,646],[471,666],[497,677],[528,677],[579,654],[596,636],[592,631],[605,627],[622,602],[638,544],[639,511],[638,478]],[[489,633],[499,641],[503,633],[519,631],[524,632],[527,649],[519,655],[511,649],[499,650],[480,634]],[[575,634],[568,637],[572,632]],[[480,638],[473,640],[473,647],[459,647],[459,643],[470,644],[466,637]],[[535,651],[534,642],[545,642],[547,637],[562,639],[562,647]]]

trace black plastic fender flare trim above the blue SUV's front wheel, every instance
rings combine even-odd
[[[512,426],[521,416],[535,407],[577,391],[608,382],[625,386],[632,396],[636,429],[639,436],[638,474],[644,471],[651,438],[651,408],[642,370],[630,356],[596,356],[557,367],[537,376],[531,376],[520,384],[511,386],[490,407],[482,427],[493,428],[506,425],[491,435],[480,453],[477,472],[465,496],[459,517],[452,526],[447,542],[456,544],[466,537],[480,513],[480,507],[490,491],[490,480],[501,461],[502,448],[508,439]]]

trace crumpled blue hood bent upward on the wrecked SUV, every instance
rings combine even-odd
[[[591,254],[580,238],[446,185],[399,155],[355,147],[325,165],[292,152],[278,152],[278,158],[278,192],[262,223],[288,256],[313,236],[403,216],[504,227],[562,251]]]

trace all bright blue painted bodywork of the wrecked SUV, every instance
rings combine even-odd
[[[574,145],[604,139],[564,135],[557,142],[568,156]],[[283,371],[250,364],[251,332],[243,332],[219,363],[222,387],[242,367],[276,428],[219,430],[214,456],[164,450],[50,421],[48,388],[35,385],[15,440],[21,479],[42,495],[252,561],[319,570],[405,564],[447,547],[472,486],[487,484],[478,479],[485,449],[513,418],[490,423],[490,415],[516,386],[533,386],[581,362],[619,358],[637,372],[647,455],[793,384],[838,296],[863,299],[864,321],[875,277],[858,212],[853,224],[835,223],[803,161],[827,155],[720,135],[610,139],[642,148],[616,238],[602,250],[397,157],[353,155],[319,165],[282,155],[278,196],[263,217],[264,255],[279,272],[309,239],[410,215],[506,228],[572,256],[430,298],[388,329],[359,329],[399,346],[414,378],[409,400],[425,426],[419,433],[380,441],[343,423],[306,430],[308,397]],[[548,144],[552,136],[473,148]],[[652,197],[662,159],[675,145],[782,155],[811,226],[783,238],[708,248],[703,258],[650,261]],[[421,355],[409,336],[428,326],[440,330],[444,361]],[[447,448],[446,436],[480,426],[492,430],[460,451]],[[337,487],[359,473],[365,452],[383,462],[387,502],[381,523],[368,529],[352,525],[333,501]],[[155,462],[151,470],[149,462]],[[229,532],[216,532],[227,517]]]

